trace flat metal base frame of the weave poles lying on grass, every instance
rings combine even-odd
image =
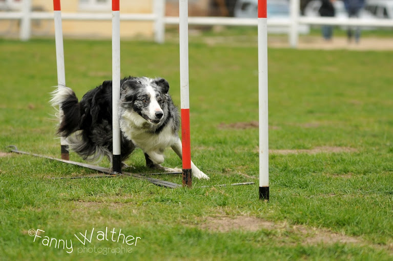
[[[90,165],[90,164],[80,163],[80,162],[73,162],[71,160],[65,160],[65,159],[55,158],[55,157],[51,157],[51,156],[45,156],[45,155],[20,151],[14,145],[7,146],[7,148],[13,148],[13,149],[11,149],[11,152],[14,152],[14,153],[52,159],[52,160],[56,160],[58,162],[63,162],[63,163],[68,163],[68,164],[84,167],[84,168],[89,168],[89,169],[93,169],[93,170],[104,173],[103,175],[95,175],[95,176],[51,177],[52,179],[77,179],[77,178],[101,178],[101,177],[131,176],[131,177],[136,177],[136,178],[140,178],[140,179],[146,179],[149,182],[153,183],[154,185],[161,186],[161,187],[167,187],[167,188],[182,187],[181,184],[161,180],[158,178],[147,177],[147,175],[182,174],[182,172],[159,172],[159,173],[122,172],[122,173],[115,173],[110,168],[104,168],[104,167],[100,167],[100,166],[96,166],[96,165]],[[239,186],[239,185],[252,185],[252,184],[255,184],[255,183],[254,182],[244,182],[244,183],[233,183],[233,184],[219,184],[219,185],[200,186],[200,187],[196,187],[196,188],[225,187],[225,186]]]

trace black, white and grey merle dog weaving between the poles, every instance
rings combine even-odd
[[[122,162],[140,148],[148,167],[180,171],[160,165],[168,147],[182,158],[179,112],[168,91],[164,78],[121,79],[118,114]],[[90,161],[107,156],[112,163],[112,81],[88,91],[80,102],[72,89],[60,86],[52,92],[50,103],[60,109],[57,135],[66,137],[70,150]],[[209,179],[193,162],[191,170],[194,177]]]

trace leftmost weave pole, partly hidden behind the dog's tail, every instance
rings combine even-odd
[[[61,25],[60,0],[53,0],[53,18],[55,25],[57,88],[66,86],[66,72],[64,66],[63,26]],[[59,109],[61,118],[61,110]],[[60,119],[61,121],[61,119]],[[61,159],[69,160],[68,144],[65,137],[60,137]]]

